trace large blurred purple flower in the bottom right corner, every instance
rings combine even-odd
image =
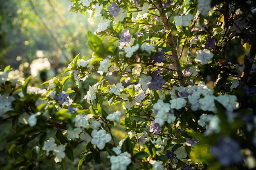
[[[220,137],[217,144],[211,146],[210,150],[222,166],[227,167],[243,161],[238,142],[229,137]]]

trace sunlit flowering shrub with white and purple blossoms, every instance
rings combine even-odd
[[[69,75],[45,82],[47,89],[28,86],[29,78],[9,67],[0,72],[0,117],[12,119],[14,130],[7,140],[14,141],[15,162],[6,169],[54,158],[63,169],[81,143],[79,170],[84,162],[101,163],[102,152],[112,170],[255,168],[255,5],[72,0],[72,12],[99,20],[88,32],[91,59],[74,57]],[[232,64],[226,51],[236,40],[246,53]],[[65,84],[79,85],[92,73],[100,78],[83,94],[85,108]],[[122,108],[107,113],[103,101]],[[115,141],[114,123],[126,128],[125,139]]]

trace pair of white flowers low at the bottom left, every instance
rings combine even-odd
[[[44,142],[42,149],[46,150],[46,156],[49,155],[50,151],[53,151],[53,155],[56,156],[54,159],[55,162],[61,162],[62,159],[65,158],[65,146],[62,144],[57,146],[53,137],[50,137],[49,140]]]

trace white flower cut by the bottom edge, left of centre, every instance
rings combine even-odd
[[[127,152],[117,156],[110,157],[111,170],[126,170],[127,166],[132,162],[130,155]]]

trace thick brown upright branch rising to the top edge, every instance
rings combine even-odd
[[[156,0],[156,4],[158,6],[157,9],[159,10],[160,18],[161,18],[161,20],[164,24],[164,29],[167,30],[167,31],[170,31],[171,28],[170,28],[170,25],[169,25],[169,22],[166,18],[165,13],[163,13],[164,10],[163,10],[161,0]],[[173,55],[174,65],[175,65],[175,68],[176,68],[176,71],[177,71],[177,75],[178,75],[180,85],[185,86],[185,80],[184,80],[184,76],[182,74],[182,69],[181,69],[181,66],[180,66],[179,57],[177,55],[177,49],[175,47],[175,44],[174,44],[174,41],[173,41],[173,35],[171,33],[169,33],[168,36],[167,36],[167,42],[168,42],[169,46],[173,47],[173,50],[171,50],[171,53]]]

